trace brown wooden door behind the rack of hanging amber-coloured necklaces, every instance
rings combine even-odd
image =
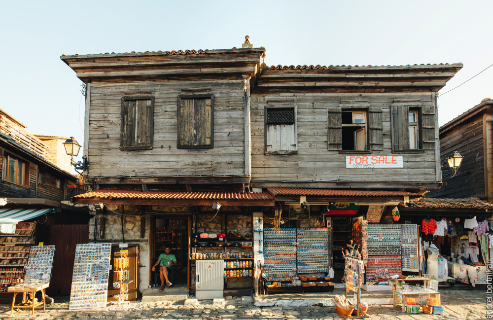
[[[139,291],[139,245],[129,245],[128,248],[124,248],[123,250],[128,250],[128,257],[130,258],[129,267],[124,270],[129,271],[129,280],[132,282],[129,284],[128,290],[128,301],[137,300],[137,295]],[[113,298],[113,294],[119,294],[120,289],[113,287],[113,271],[114,268],[114,257],[115,252],[120,251],[119,245],[113,245],[111,247],[111,270],[109,271],[109,279],[108,279],[108,301],[116,301]]]

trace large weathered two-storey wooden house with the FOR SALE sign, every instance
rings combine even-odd
[[[274,206],[305,200],[315,218],[291,225],[313,227],[331,202],[367,209],[440,187],[436,94],[461,64],[268,67],[264,57],[247,46],[61,57],[87,88],[93,192],[74,202],[106,206],[94,241],[137,248],[133,289],[154,283],[162,232],[176,226],[194,287],[193,233],[245,240]]]

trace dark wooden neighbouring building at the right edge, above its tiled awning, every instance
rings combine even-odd
[[[445,160],[457,151],[464,158],[457,174],[443,177],[446,183],[426,194],[429,198],[480,198],[493,200],[493,100],[485,99],[479,105],[460,114],[440,127],[440,154],[443,170]],[[449,170],[450,172],[450,170]]]

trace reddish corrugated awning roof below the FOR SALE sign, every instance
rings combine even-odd
[[[269,188],[273,195],[296,195],[296,196],[356,196],[356,197],[385,197],[385,196],[412,196],[421,197],[417,193],[404,191],[385,190],[331,190],[331,189],[301,189],[301,188]]]

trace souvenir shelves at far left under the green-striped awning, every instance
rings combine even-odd
[[[24,282],[29,250],[34,245],[36,222],[20,222],[15,234],[0,233],[0,292]]]

